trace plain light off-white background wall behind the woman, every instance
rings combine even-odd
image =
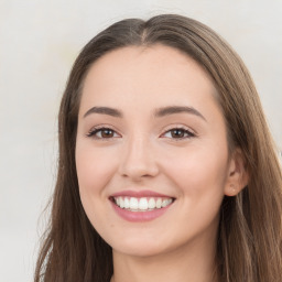
[[[0,281],[32,281],[56,174],[56,117],[79,50],[123,18],[181,13],[241,55],[282,149],[281,0],[0,0]]]

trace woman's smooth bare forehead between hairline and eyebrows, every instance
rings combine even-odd
[[[155,104],[200,108],[215,96],[208,74],[183,52],[164,45],[128,46],[93,64],[84,82],[80,108],[106,104],[137,110]]]

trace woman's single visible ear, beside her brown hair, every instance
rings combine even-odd
[[[236,149],[229,161],[225,195],[236,196],[247,186],[248,181],[249,174],[246,167],[243,154],[240,149]]]

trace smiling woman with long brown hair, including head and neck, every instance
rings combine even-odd
[[[248,70],[181,15],[118,22],[72,69],[35,281],[281,281],[282,176]]]

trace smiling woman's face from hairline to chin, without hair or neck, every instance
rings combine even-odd
[[[232,166],[215,96],[202,67],[167,46],[123,47],[91,66],[76,167],[85,212],[113,251],[215,243]]]

